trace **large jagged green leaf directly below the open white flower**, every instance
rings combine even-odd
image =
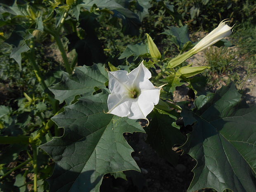
[[[140,171],[123,133],[144,130],[136,120],[105,114],[108,95],[102,89],[82,97],[52,118],[64,127],[64,135],[40,146],[55,160],[50,192],[98,192],[104,174]]]

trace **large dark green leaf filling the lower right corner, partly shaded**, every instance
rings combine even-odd
[[[248,106],[234,84],[199,96],[194,105],[181,112],[185,126],[194,123],[182,146],[197,160],[188,192],[256,191],[256,106]]]

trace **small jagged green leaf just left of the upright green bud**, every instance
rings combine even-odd
[[[134,56],[133,61],[135,61],[138,57],[143,57],[149,54],[149,50],[147,45],[144,43],[138,43],[135,45],[127,45],[126,50],[120,55],[118,59],[123,59]]]

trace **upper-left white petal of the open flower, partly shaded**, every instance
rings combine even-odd
[[[112,94],[125,95],[129,88],[128,72],[119,71],[108,71],[109,73],[109,90]],[[120,96],[122,97],[122,96]]]

